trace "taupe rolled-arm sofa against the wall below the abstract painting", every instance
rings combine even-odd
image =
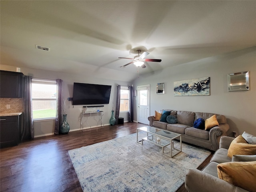
[[[170,112],[170,116],[175,117],[176,123],[168,123],[156,119],[156,113]],[[195,128],[194,122],[200,118],[207,120],[212,116],[216,117],[217,126],[213,126],[207,130]],[[160,110],[155,111],[154,116],[149,116],[149,126],[169,130],[182,135],[182,142],[187,142],[197,146],[201,146],[213,151],[219,148],[219,141],[221,136],[226,136],[229,130],[229,125],[226,123],[226,117],[220,114],[204,113],[204,112],[190,112],[190,111],[176,111],[176,110]],[[204,128],[204,127],[203,127]]]

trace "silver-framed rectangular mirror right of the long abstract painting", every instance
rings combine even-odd
[[[228,74],[228,91],[248,91],[249,72]]]

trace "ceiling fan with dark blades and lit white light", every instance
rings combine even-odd
[[[125,64],[123,66],[120,66],[120,67],[126,67],[130,64],[135,64],[137,67],[142,67],[142,68],[145,68],[146,65],[144,64],[144,61],[148,62],[148,61],[152,61],[152,62],[161,62],[162,60],[161,59],[144,59],[148,54],[149,52],[143,52],[141,55],[140,55],[140,52],[141,50],[137,50],[137,53],[138,55],[134,56],[134,58],[127,58],[127,57],[118,57],[120,59],[133,59],[134,61],[128,63],[128,64]]]

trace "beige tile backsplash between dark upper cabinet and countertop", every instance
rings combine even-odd
[[[10,105],[10,109],[7,109],[6,105]],[[23,112],[22,98],[0,98],[0,113],[6,114],[17,112]]]

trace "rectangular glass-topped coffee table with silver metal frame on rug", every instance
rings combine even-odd
[[[144,131],[147,133],[146,137],[143,137],[141,140],[138,140],[138,132]],[[180,137],[180,148],[174,148],[174,142],[173,140]],[[145,126],[137,128],[137,142],[143,145],[143,141],[148,141],[150,143],[153,143],[157,146],[162,147],[162,153],[173,157],[177,155],[178,153],[182,152],[182,140],[181,140],[181,134],[177,134],[174,132],[170,132],[168,130],[163,130],[155,127]],[[164,148],[170,145],[170,155],[167,153],[164,153]],[[173,154],[173,149],[175,149],[175,152]]]

